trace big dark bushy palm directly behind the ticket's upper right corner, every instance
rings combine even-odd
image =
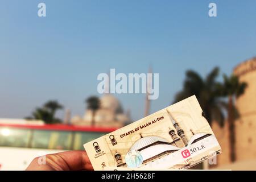
[[[183,90],[175,96],[174,102],[179,102],[187,97],[196,95],[204,113],[204,117],[209,124],[213,120],[217,121],[221,126],[224,125],[224,114],[220,107],[220,100],[217,95],[217,81],[219,69],[214,68],[205,78],[202,78],[195,71],[187,71],[183,85]]]

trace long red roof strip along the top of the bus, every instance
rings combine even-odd
[[[94,126],[77,126],[77,125],[64,125],[64,124],[43,124],[36,125],[34,123],[1,123],[0,127],[15,127],[19,129],[35,129],[35,130],[59,130],[59,131],[92,131],[110,133],[118,128],[114,127],[94,127]]]

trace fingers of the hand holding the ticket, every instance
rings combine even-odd
[[[40,163],[42,157],[32,160],[27,167],[27,171],[74,171],[88,170],[92,171],[88,155],[85,151],[67,151],[56,154],[46,155],[44,164]]]

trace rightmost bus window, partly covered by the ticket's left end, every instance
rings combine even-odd
[[[90,142],[96,138],[102,137],[107,133],[100,133],[100,132],[76,132],[74,143],[73,143],[73,150],[84,150],[83,144]]]

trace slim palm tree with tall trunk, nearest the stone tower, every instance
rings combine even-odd
[[[238,77],[231,75],[230,77],[224,75],[223,84],[218,84],[220,96],[228,97],[228,103],[224,104],[228,111],[228,130],[229,130],[229,145],[230,145],[230,160],[236,160],[236,130],[234,121],[239,117],[239,113],[234,105],[234,98],[240,97],[246,89],[246,82],[240,82]]]

